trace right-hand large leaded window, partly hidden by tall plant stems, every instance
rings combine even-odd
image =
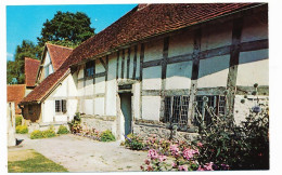
[[[211,116],[209,112],[204,109],[204,103],[203,97],[206,96],[208,98],[207,106],[214,111],[215,115],[225,115],[225,108],[226,108],[226,97],[222,95],[198,95],[196,96],[196,109],[195,112],[200,112],[201,115],[204,115],[204,121],[206,124],[211,123]],[[200,125],[198,120],[194,120],[195,125]]]

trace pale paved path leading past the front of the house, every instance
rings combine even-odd
[[[72,134],[44,139],[30,139],[28,135],[16,138],[24,139],[22,147],[9,150],[35,149],[69,172],[140,171],[148,154],[125,149],[119,142],[102,143]]]

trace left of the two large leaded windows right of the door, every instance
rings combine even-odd
[[[167,96],[165,97],[165,119],[166,123],[178,124],[184,129],[188,122],[189,96]]]

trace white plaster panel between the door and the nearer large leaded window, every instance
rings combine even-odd
[[[142,119],[159,120],[161,97],[142,96]]]

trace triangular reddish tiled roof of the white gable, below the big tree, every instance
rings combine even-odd
[[[72,48],[55,45],[51,43],[47,43],[46,46],[48,48],[54,71],[56,71],[60,68],[60,66],[73,52]]]

